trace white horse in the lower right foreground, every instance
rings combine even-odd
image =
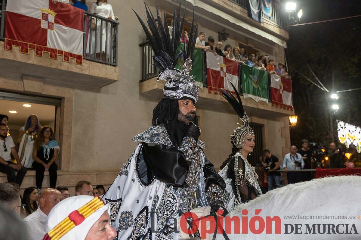
[[[239,205],[223,219],[222,226],[230,240],[361,239],[360,200],[360,176],[317,178],[274,189]],[[209,222],[207,226],[210,230]],[[216,239],[225,240],[222,234]]]

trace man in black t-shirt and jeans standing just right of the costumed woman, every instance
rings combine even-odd
[[[279,170],[278,158],[275,155],[272,155],[270,150],[263,150],[263,155],[266,158],[266,162],[263,162],[261,157],[261,163],[265,167],[265,170],[268,171],[268,191],[273,189],[273,184],[275,187],[280,187],[281,185],[281,173],[275,172]]]

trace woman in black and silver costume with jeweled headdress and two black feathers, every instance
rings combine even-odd
[[[255,133],[249,126],[249,119],[243,110],[238,91],[233,84],[232,87],[236,92],[238,101],[232,94],[223,89],[221,89],[222,96],[232,105],[243,125],[234,128],[233,135],[231,135],[232,153],[222,163],[221,171],[219,171],[219,175],[226,182],[226,190],[230,193],[226,203],[226,208],[229,211],[234,210],[236,205],[250,201],[262,194],[255,168],[247,161],[247,155],[252,153],[255,146]]]

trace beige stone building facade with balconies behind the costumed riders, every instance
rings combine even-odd
[[[276,16],[281,11],[278,1],[274,2],[273,18],[269,20],[264,16],[262,23],[248,17],[243,0],[187,2],[186,22],[192,14],[191,5],[196,14],[202,15],[199,32],[217,40],[218,32],[226,28],[229,37],[223,41],[223,46],[244,47],[250,53],[268,55],[275,63],[285,62],[288,32],[280,26],[282,22]],[[162,97],[164,83],[157,82],[149,74],[144,77],[145,56],[140,45],[146,39],[132,11],[144,16],[143,1],[109,0],[108,3],[119,18],[117,31],[114,31],[117,40],[113,41],[116,64],[84,59],[82,65],[77,65],[74,59],[64,62],[62,56],[57,60],[49,59],[48,53],[36,56],[34,50],[23,54],[16,46],[9,51],[4,47],[4,40],[0,41],[0,99],[3,99],[0,105],[7,100],[54,107],[54,121],[46,123],[55,128],[61,148],[57,185],[68,186],[73,194],[80,180],[105,186],[113,182],[136,146],[132,138],[152,124],[153,108]],[[151,10],[158,4],[167,18],[173,15],[173,1],[145,0],[145,3]],[[250,98],[242,101],[259,136],[255,156],[259,158],[261,150],[267,148],[283,159],[290,147],[288,116],[294,115],[294,110]],[[7,106],[0,109],[7,111]],[[205,154],[219,169],[231,153],[230,135],[239,122],[238,116],[221,95],[209,94],[206,87],[200,89],[196,108],[200,139],[206,144]],[[15,124],[16,114],[1,110],[0,113],[9,116],[9,127],[16,136],[21,126],[20,122]],[[258,162],[255,159],[253,157],[253,164],[259,163],[259,159]],[[6,176],[0,176],[0,181],[5,182]],[[21,188],[29,186],[35,186],[35,171],[27,173]],[[43,187],[47,186],[49,182],[45,176]]]

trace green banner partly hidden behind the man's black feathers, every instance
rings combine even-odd
[[[178,45],[177,54],[183,50],[184,44],[180,43]],[[195,81],[195,85],[203,89],[203,51],[201,49],[195,48],[193,51],[193,67],[191,71],[191,76]],[[184,58],[183,55],[178,59],[177,65],[175,68],[183,70]]]

